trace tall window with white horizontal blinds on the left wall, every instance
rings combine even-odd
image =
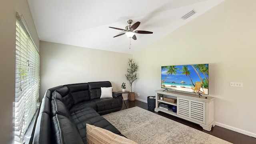
[[[22,16],[16,21],[16,78],[14,143],[24,143],[24,133],[37,110],[39,98],[39,52]]]

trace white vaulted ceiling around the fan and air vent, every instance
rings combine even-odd
[[[224,0],[28,0],[42,41],[134,54]],[[186,20],[181,17],[194,10]],[[127,20],[153,34],[113,38]],[[129,48],[130,47],[130,48]]]

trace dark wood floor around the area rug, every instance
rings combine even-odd
[[[125,100],[125,102],[128,102],[127,108],[132,108],[134,106],[138,106],[140,108],[144,108],[145,110],[148,110],[147,103],[140,102],[138,100],[134,100],[134,101]],[[122,110],[124,110],[124,109],[126,109],[126,108],[123,104]],[[149,110],[149,111],[154,112],[154,110]],[[176,122],[180,122],[182,124],[185,124],[187,126],[195,128],[195,129],[205,132],[207,134],[211,134],[213,136],[216,136],[216,137],[226,140],[228,142],[232,142],[234,144],[256,144],[256,138],[253,138],[251,136],[247,136],[244,134],[240,134],[238,132],[234,132],[234,131],[228,130],[226,128],[222,128],[220,126],[214,126],[214,127],[212,127],[212,130],[210,132],[208,132],[206,130],[203,130],[203,128],[201,126],[199,126],[198,124],[194,124],[187,120],[177,118],[176,116],[172,116],[172,115],[166,114],[164,112],[154,112],[154,113],[164,116],[166,118],[169,118],[171,120],[174,120]]]

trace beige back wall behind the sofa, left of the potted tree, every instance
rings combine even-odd
[[[132,54],[41,41],[40,98],[48,88],[82,82],[110,81],[114,91],[122,90],[128,58]]]

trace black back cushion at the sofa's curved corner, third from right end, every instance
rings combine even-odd
[[[74,105],[74,100],[70,94],[69,88],[67,86],[64,86],[62,88],[56,89],[56,92],[58,92],[62,96],[62,102],[66,105],[68,110],[72,108]]]

